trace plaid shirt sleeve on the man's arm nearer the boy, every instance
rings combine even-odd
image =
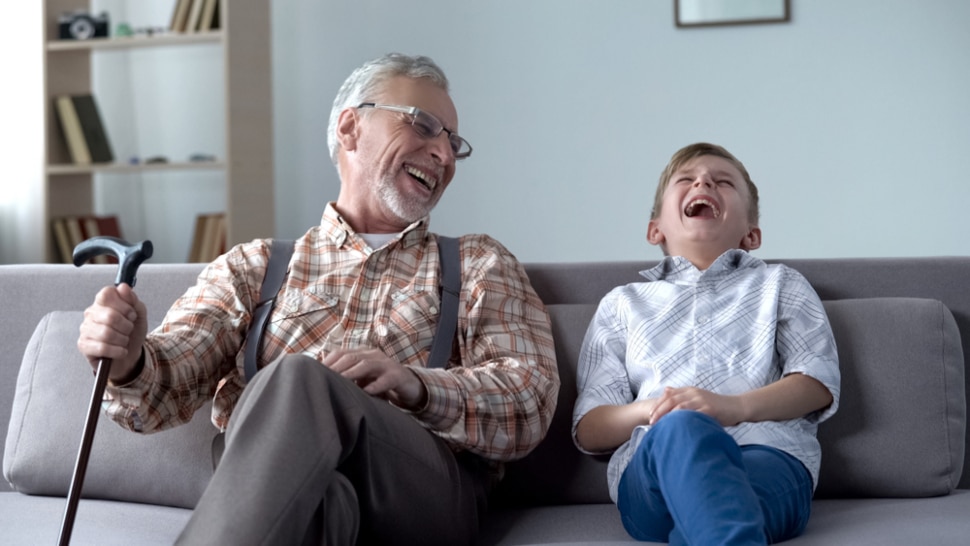
[[[518,459],[543,439],[556,410],[549,315],[500,243],[484,235],[461,240],[461,361],[447,370],[414,368],[428,389],[428,404],[415,417],[458,449]]]

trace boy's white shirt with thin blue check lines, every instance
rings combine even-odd
[[[590,323],[579,357],[573,440],[580,419],[597,406],[656,398],[667,386],[741,394],[803,373],[829,389],[831,406],[726,430],[740,445],[791,454],[817,483],[816,431],[838,408],[841,379],[832,329],[808,281],[742,250],[726,252],[705,271],[668,257],[641,275],[650,282],[613,289]],[[649,429],[638,426],[610,458],[614,502],[623,471]]]

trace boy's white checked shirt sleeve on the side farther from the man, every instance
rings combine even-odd
[[[841,374],[835,336],[815,289],[794,269],[784,268],[784,284],[778,301],[775,347],[782,375],[805,374],[825,385],[832,404],[806,419],[821,423],[839,407]]]

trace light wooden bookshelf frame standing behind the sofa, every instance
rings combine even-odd
[[[123,0],[142,2],[146,0]],[[148,0],[175,9],[175,0]],[[58,248],[52,229],[54,218],[114,214],[118,211],[95,211],[95,179],[98,176],[142,178],[142,184],[164,184],[167,176],[186,176],[200,173],[211,178],[221,175],[224,184],[226,242],[233,245],[257,237],[269,237],[274,231],[273,207],[273,142],[272,142],[272,83],[270,50],[269,3],[265,0],[219,0],[217,30],[192,33],[163,33],[151,37],[109,37],[88,40],[59,40],[58,19],[66,12],[85,10],[96,12],[88,0],[45,0],[44,2],[44,96],[45,96],[45,165],[43,214],[38,229],[46,233],[47,261],[58,261]],[[113,34],[119,21],[111,20]],[[170,21],[158,21],[168,27]],[[213,150],[215,161],[192,162],[172,158],[164,164],[129,164],[116,152],[110,163],[79,165],[73,163],[61,133],[55,111],[55,97],[93,92],[93,58],[148,49],[219,48],[222,71],[221,117],[225,119],[224,149]],[[206,57],[211,58],[212,56]],[[172,77],[179,78],[179,74]],[[184,76],[191,77],[191,76]],[[96,96],[97,98],[97,96]],[[114,104],[99,101],[102,117]],[[173,117],[166,124],[186,124],[197,120]],[[108,126],[111,138],[111,127]],[[143,152],[150,156],[150,151]],[[147,177],[150,182],[146,182]],[[179,184],[184,188],[186,184]],[[174,187],[174,186],[173,186]],[[191,191],[191,190],[188,190]],[[167,213],[166,222],[178,224],[187,235],[182,244],[191,244],[194,213]],[[126,237],[128,228],[122,226]],[[152,238],[152,233],[147,234]],[[178,261],[188,258],[187,253]]]

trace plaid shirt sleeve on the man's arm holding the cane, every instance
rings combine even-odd
[[[203,269],[149,333],[141,374],[106,388],[105,410],[113,420],[136,432],[155,432],[190,421],[212,400],[219,382],[235,373],[268,258],[268,246],[253,242]]]

